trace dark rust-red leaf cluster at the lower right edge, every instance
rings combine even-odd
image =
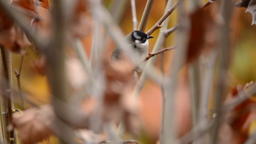
[[[225,102],[239,96],[244,88],[238,85],[229,93]],[[220,143],[241,144],[250,136],[250,124],[256,120],[256,101],[249,98],[241,104],[237,105],[230,113],[226,114],[226,121],[219,130]],[[223,137],[225,135],[225,137]]]

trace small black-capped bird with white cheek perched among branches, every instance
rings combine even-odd
[[[153,36],[148,36],[143,31],[132,31],[125,36],[125,40],[132,46],[135,54],[142,60],[149,53],[149,39]],[[111,55],[111,59],[121,59],[122,52],[119,46],[117,46]]]

